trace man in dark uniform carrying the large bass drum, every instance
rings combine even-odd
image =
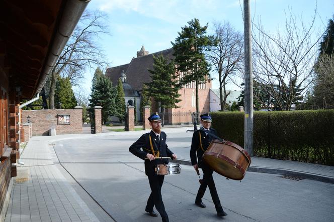
[[[204,161],[202,161],[203,153],[209,147],[210,142],[213,139],[218,138],[217,132],[215,129],[210,128],[212,118],[208,113],[203,114],[200,117],[203,129],[199,129],[194,132],[190,148],[191,164],[193,165],[196,171],[198,171],[198,168],[202,168],[203,170],[203,180],[202,184],[200,185],[200,188],[198,189],[197,196],[195,199],[195,204],[202,208],[206,207],[205,204],[202,202],[202,197],[204,196],[206,187],[209,186],[212,201],[215,204],[217,210],[217,215],[226,216],[227,213],[224,212],[223,207],[220,204],[215,182],[213,181],[212,177],[213,170]],[[196,153],[198,162],[196,158]]]

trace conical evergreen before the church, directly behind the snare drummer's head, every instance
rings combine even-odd
[[[178,93],[180,88],[174,62],[167,63],[162,55],[153,56],[153,70],[148,72],[152,79],[147,84],[148,95],[160,104],[162,113],[164,114],[166,108],[178,108],[176,103],[181,101],[178,99],[181,95]]]

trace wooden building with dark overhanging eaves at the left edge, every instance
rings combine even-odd
[[[0,1],[0,221],[20,156],[20,102],[39,97],[89,2]]]

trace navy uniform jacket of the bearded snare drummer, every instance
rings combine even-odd
[[[157,141],[157,136],[155,136],[155,133],[151,130],[149,133],[145,133],[141,135],[141,137],[134,142],[130,148],[129,151],[133,153],[134,155],[138,156],[140,159],[145,160],[145,174],[146,175],[153,175],[155,174],[154,168],[156,164],[168,164],[168,159],[155,159],[152,161],[149,161],[149,159],[145,159],[146,154],[152,154],[151,146],[149,143],[149,135],[151,136],[152,146],[155,151],[159,151],[159,157],[171,157],[174,154],[167,146],[166,144],[166,134],[164,132],[160,133],[160,145]]]

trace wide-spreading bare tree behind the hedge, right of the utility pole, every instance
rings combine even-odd
[[[315,33],[315,19],[316,9],[308,25],[302,18],[297,21],[290,9],[284,32],[278,29],[276,35],[266,32],[261,21],[259,25],[253,24],[254,78],[270,97],[267,101],[274,103],[262,101],[267,109],[290,110],[310,88],[322,36]]]

